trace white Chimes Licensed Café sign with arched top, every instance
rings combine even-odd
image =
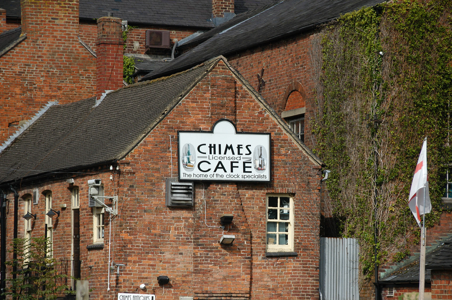
[[[178,134],[179,180],[270,181],[269,133],[237,133],[223,119],[212,132]]]

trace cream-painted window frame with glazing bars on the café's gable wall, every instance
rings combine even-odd
[[[268,200],[270,197],[278,197],[278,207],[273,207],[268,205]],[[280,207],[281,206],[281,197],[289,198],[289,207]],[[277,209],[277,218],[276,219],[269,219],[268,218],[268,212],[269,209]],[[265,205],[265,245],[266,245],[266,251],[267,252],[289,252],[293,251],[293,219],[294,219],[294,213],[293,213],[293,197],[290,194],[267,194],[266,197],[266,205]],[[284,211],[283,211],[284,210]],[[280,219],[280,212],[285,212],[288,210],[289,213],[289,219],[283,220]],[[278,224],[282,223],[289,223],[287,231],[279,231],[279,228],[276,229],[276,231],[270,230],[269,231],[269,224],[268,222],[276,222]],[[280,233],[284,232],[284,233]],[[279,244],[279,235],[287,234],[287,245],[278,245]],[[271,242],[271,235],[276,237],[276,244],[269,244]]]

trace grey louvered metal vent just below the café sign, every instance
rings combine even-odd
[[[166,179],[166,201],[168,207],[193,206],[193,182],[179,182],[174,178]]]

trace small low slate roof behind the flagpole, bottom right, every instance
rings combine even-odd
[[[439,242],[425,254],[425,281],[430,282],[431,270],[452,269],[452,237]],[[419,254],[400,263],[384,275],[381,284],[419,283]]]

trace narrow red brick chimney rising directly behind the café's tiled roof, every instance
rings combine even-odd
[[[108,90],[122,87],[122,60],[124,40],[122,39],[122,20],[115,17],[102,17],[97,20],[96,42],[96,97]]]

